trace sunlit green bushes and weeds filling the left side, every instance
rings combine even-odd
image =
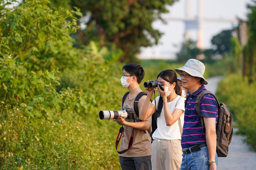
[[[98,118],[120,107],[120,52],[73,48],[78,11],[48,4],[0,4],[0,169],[120,169],[117,123]]]

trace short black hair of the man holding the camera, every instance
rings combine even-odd
[[[138,84],[140,84],[140,82],[144,78],[144,70],[142,66],[140,66],[139,64],[136,64],[136,63],[125,64],[123,66],[123,70],[125,70],[132,76],[136,76]]]

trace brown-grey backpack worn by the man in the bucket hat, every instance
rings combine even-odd
[[[218,157],[227,157],[229,151],[229,144],[232,140],[233,136],[233,116],[232,114],[226,109],[226,105],[224,103],[219,103],[218,99],[211,91],[204,90],[198,94],[196,98],[196,112],[200,116],[202,122],[202,133],[204,127],[203,117],[201,117],[201,110],[200,110],[200,102],[204,95],[211,94],[217,101],[218,104],[218,122],[216,126],[216,134],[217,134],[217,148],[216,152]],[[188,99],[188,96],[187,96]],[[187,104],[187,99],[185,101],[185,106]],[[201,133],[201,134],[202,134]]]

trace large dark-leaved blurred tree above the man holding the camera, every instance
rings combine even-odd
[[[157,44],[162,33],[152,27],[152,23],[168,12],[166,5],[174,0],[65,0],[71,7],[80,8],[87,17],[86,29],[78,30],[81,44],[97,40],[108,46],[112,42],[123,50],[121,61],[136,60],[140,47]],[[63,1],[53,0],[53,6],[61,6]],[[162,19],[161,19],[162,20]]]

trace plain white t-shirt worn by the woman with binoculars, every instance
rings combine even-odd
[[[168,102],[167,105],[169,107],[170,112],[173,113],[174,109],[176,108],[185,111],[184,101],[185,101],[185,98],[182,98],[181,96],[178,95],[174,100],[172,100],[172,102]],[[152,104],[155,105],[155,102],[156,102],[156,105],[157,105],[156,108],[157,108],[158,102],[159,102],[159,96],[152,102]],[[152,135],[153,139],[165,139],[165,140],[181,139],[178,120],[175,123],[173,123],[172,126],[167,126],[165,122],[165,115],[163,113],[163,110],[164,108],[162,108],[161,115],[157,118],[157,129],[154,131]],[[181,114],[180,120],[181,120],[181,126],[183,128],[184,112]]]

